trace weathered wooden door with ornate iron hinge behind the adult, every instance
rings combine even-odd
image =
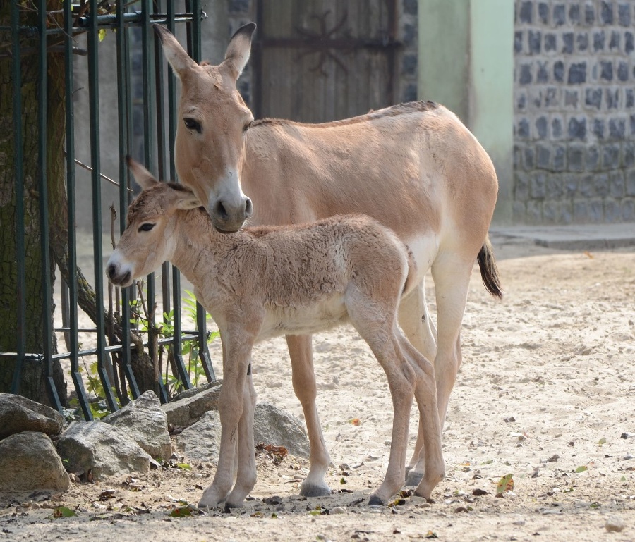
[[[395,0],[257,0],[257,118],[333,121],[394,103]]]

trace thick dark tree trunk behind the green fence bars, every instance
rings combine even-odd
[[[6,2],[0,8],[0,25],[11,24],[11,4]],[[48,2],[48,8],[61,8],[60,0]],[[21,16],[21,25],[35,25],[36,15]],[[3,32],[3,41],[10,39]],[[36,48],[38,38],[23,36],[20,47]],[[22,98],[22,167],[24,183],[25,214],[25,300],[26,325],[25,351],[44,352],[44,329],[52,325],[52,314],[44,314],[44,274],[48,273],[51,283],[54,281],[54,264],[51,269],[42,270],[42,252],[40,247],[39,186],[40,168],[37,162],[37,147],[40,134],[37,125],[38,110],[38,58],[37,54],[27,54],[21,58],[21,98]],[[17,148],[13,129],[13,59],[0,58],[0,352],[16,352],[18,328],[18,302],[16,295],[17,264],[16,254],[16,159]],[[63,133],[64,117],[64,70],[63,56],[49,54],[48,96],[47,96],[47,191],[49,195],[49,226],[55,229],[56,223],[66,218],[66,195],[64,183]],[[51,258],[53,262],[53,257]],[[56,345],[53,345],[56,348]],[[0,357],[0,392],[11,389],[16,359]],[[59,362],[54,362],[54,381],[60,400],[66,402],[66,385]],[[25,362],[19,393],[26,397],[48,402],[44,381],[44,366],[40,362]]]

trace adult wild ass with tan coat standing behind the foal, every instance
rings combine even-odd
[[[219,66],[199,65],[168,30],[155,30],[181,80],[176,172],[217,230],[238,230],[249,217],[252,224],[281,225],[359,213],[388,226],[410,247],[417,285],[402,297],[399,324],[417,350],[434,360],[443,425],[461,364],[459,331],[476,259],[485,288],[502,296],[488,240],[498,182],[483,147],[454,113],[429,101],[324,124],[254,122],[236,90],[253,23],[238,29]],[[423,289],[430,268],[438,333]],[[330,458],[315,410],[310,335],[286,340],[310,441],[311,467],[301,494],[328,495]],[[408,467],[414,486],[423,476],[419,425]]]

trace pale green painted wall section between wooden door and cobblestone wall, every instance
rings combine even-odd
[[[514,3],[419,0],[421,99],[454,111],[494,162],[498,223],[512,221]]]

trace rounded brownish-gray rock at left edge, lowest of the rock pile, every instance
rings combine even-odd
[[[0,442],[0,491],[66,491],[70,486],[48,435],[16,433]]]

